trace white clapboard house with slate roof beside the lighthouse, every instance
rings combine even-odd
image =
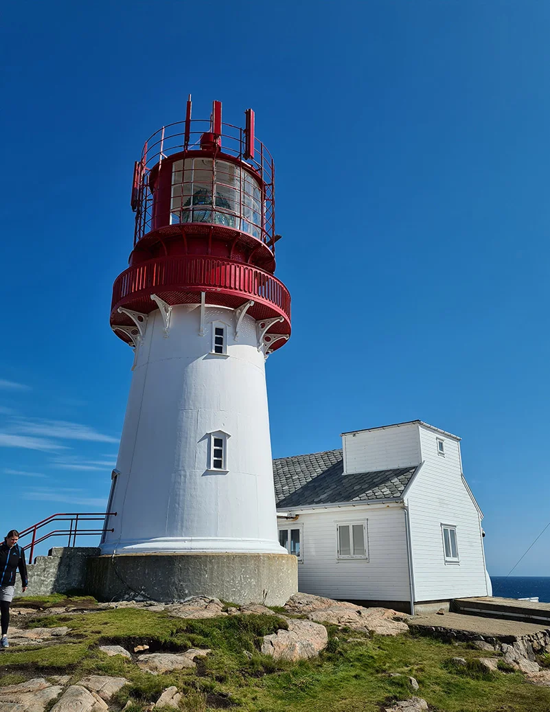
[[[420,420],[274,460],[279,542],[299,590],[410,611],[492,595],[460,438]]]

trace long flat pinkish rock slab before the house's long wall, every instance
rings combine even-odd
[[[405,615],[390,608],[365,608],[345,601],[297,593],[286,602],[289,613],[306,615],[310,620],[348,626],[354,630],[379,635],[408,632]]]

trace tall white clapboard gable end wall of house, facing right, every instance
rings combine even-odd
[[[486,596],[479,511],[461,477],[460,443],[420,425],[424,465],[408,492],[415,600]],[[437,438],[445,456],[437,454]],[[441,525],[457,528],[460,563],[445,563]]]

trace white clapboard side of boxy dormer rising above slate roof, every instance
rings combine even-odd
[[[346,474],[409,467],[421,461],[415,423],[344,433],[342,443]]]

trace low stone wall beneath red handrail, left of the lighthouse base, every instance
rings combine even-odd
[[[47,596],[51,593],[67,591],[84,592],[86,581],[86,561],[98,556],[98,548],[55,547],[48,556],[37,556],[33,564],[27,564],[28,589],[21,592],[21,577],[17,574],[16,596]]]

